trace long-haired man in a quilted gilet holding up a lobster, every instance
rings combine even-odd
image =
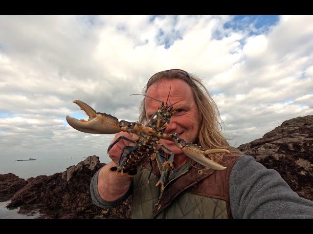
[[[169,96],[170,90],[170,96]],[[204,149],[227,149],[228,155],[215,155],[214,160],[227,168],[221,171],[205,169],[169,140],[159,144],[174,152],[174,170],[166,175],[164,190],[155,184],[159,180],[162,164],[148,160],[139,166],[137,174],[115,175],[110,168],[116,166],[124,146],[132,145],[120,140],[109,151],[112,162],[101,168],[90,183],[92,200],[100,207],[114,207],[133,194],[132,218],[313,218],[313,202],[294,193],[281,176],[266,169],[251,156],[243,156],[230,147],[218,128],[218,109],[201,81],[180,69],[156,73],[144,89],[140,122],[146,123],[156,112],[157,100],[174,104],[175,116],[165,133],[177,133],[186,142]],[[156,100],[157,99],[157,100]],[[120,132],[120,136],[137,140],[134,135]],[[113,142],[112,141],[112,142]]]

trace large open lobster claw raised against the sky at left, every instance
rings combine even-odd
[[[115,134],[121,131],[119,121],[116,117],[106,113],[95,112],[89,105],[80,100],[74,100],[81,110],[89,116],[88,120],[76,119],[67,116],[67,123],[78,131],[84,133]]]

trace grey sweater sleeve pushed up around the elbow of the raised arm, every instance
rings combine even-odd
[[[101,208],[112,208],[120,205],[123,201],[127,199],[129,195],[131,195],[133,191],[133,180],[131,182],[131,186],[124,196],[117,199],[116,201],[106,201],[103,200],[98,193],[98,175],[101,168],[94,174],[90,182],[90,195],[93,203]]]

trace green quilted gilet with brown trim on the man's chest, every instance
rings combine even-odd
[[[199,170],[190,162],[169,171],[164,191],[156,187],[161,163],[149,162],[133,178],[132,218],[232,218],[229,205],[229,176],[238,156],[228,157],[223,171]],[[194,164],[195,165],[195,164]]]

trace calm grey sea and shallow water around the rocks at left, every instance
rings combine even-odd
[[[87,156],[86,156],[87,157]],[[51,176],[55,173],[64,172],[68,167],[77,165],[86,158],[82,156],[59,156],[59,157],[40,157],[31,161],[15,161],[16,159],[0,158],[0,174],[13,173],[23,179],[36,177],[41,175]],[[109,156],[100,156],[100,162],[109,163]],[[20,158],[28,159],[28,158]],[[40,214],[22,215],[18,214],[20,208],[9,210],[5,206],[10,203],[10,200],[0,202],[0,219],[21,219],[21,218],[36,218]]]

